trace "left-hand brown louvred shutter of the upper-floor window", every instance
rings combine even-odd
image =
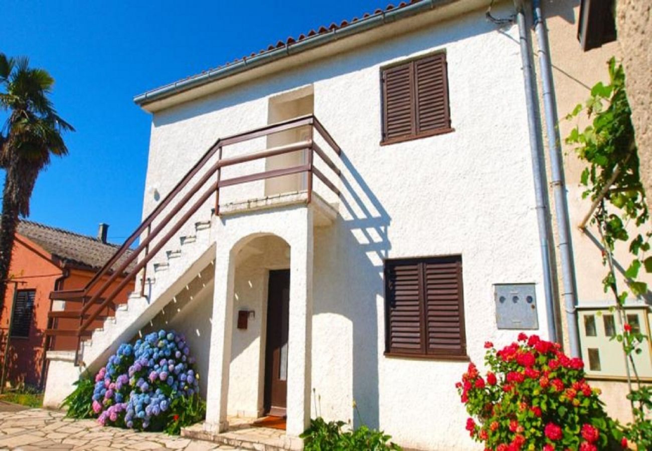
[[[415,134],[411,63],[383,71],[383,140]]]

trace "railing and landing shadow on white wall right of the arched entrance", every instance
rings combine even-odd
[[[378,359],[383,352],[379,338],[384,337],[379,300],[384,299],[383,261],[391,248],[387,239],[391,218],[344,151],[341,160],[342,220],[316,234],[316,258],[327,259],[324,266],[329,270],[315,275],[315,293],[331,297],[315,298],[314,315],[335,313],[351,322],[351,389],[361,418],[353,409],[349,418],[355,426],[362,421],[378,428]]]

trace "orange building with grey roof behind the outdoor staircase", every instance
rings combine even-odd
[[[0,311],[0,371],[4,366],[6,385],[25,383],[43,388],[46,349],[76,347],[74,336],[47,338],[45,335],[46,329],[52,327],[48,321],[52,304],[50,292],[79,289],[91,280],[119,247],[106,242],[107,229],[108,225],[100,224],[98,237],[89,237],[36,222],[21,220],[18,224],[9,268],[10,281]],[[117,278],[113,286],[121,280]],[[131,282],[117,297],[117,302],[126,302],[128,293],[133,290]],[[65,306],[65,310],[80,308],[74,303]]]

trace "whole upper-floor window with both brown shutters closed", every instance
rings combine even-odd
[[[452,131],[446,53],[384,68],[381,83],[381,144]]]

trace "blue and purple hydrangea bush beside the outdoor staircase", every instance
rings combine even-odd
[[[179,433],[203,418],[199,374],[183,334],[160,330],[123,343],[95,375],[100,424]]]

